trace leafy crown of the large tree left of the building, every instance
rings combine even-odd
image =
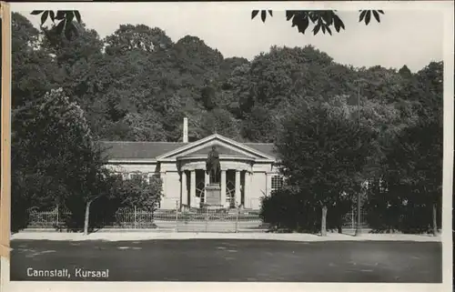
[[[93,146],[83,110],[63,89],[15,108],[13,120],[13,201],[29,194],[25,200],[33,206],[65,206],[68,200],[89,206],[102,193],[105,161]],[[35,189],[26,184],[32,180]]]

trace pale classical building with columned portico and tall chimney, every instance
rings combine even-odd
[[[159,208],[200,207],[206,199],[209,177],[207,155],[217,146],[220,162],[221,205],[260,208],[261,196],[282,186],[273,144],[238,143],[214,134],[187,142],[187,119],[183,142],[100,142],[108,166],[124,178],[157,176],[163,183]]]

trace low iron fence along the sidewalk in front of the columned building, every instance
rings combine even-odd
[[[29,212],[28,227],[62,228],[66,224],[66,217],[70,215],[69,212],[59,212],[58,209],[48,212]],[[362,228],[368,228],[365,216],[366,213],[362,213]],[[357,220],[357,214],[350,212],[343,216],[342,227],[355,229]],[[172,229],[177,232],[248,232],[265,231],[268,228],[263,224],[259,210],[242,208],[158,209],[154,213],[134,208],[116,212],[112,220],[103,222],[101,226],[117,229]]]

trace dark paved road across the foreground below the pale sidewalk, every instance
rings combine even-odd
[[[11,280],[440,283],[440,243],[273,240],[14,240]],[[67,268],[71,277],[27,277]],[[107,278],[76,268],[109,269]],[[99,275],[98,275],[99,276]]]

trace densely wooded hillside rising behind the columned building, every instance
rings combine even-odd
[[[217,131],[272,142],[289,107],[305,99],[350,96],[357,104],[362,79],[362,103],[395,109],[419,101],[419,80],[437,74],[438,64],[414,75],[406,65],[399,72],[354,68],[310,45],[274,46],[251,62],[224,58],[197,36],[171,40],[146,25],[120,25],[105,39],[83,28],[67,41],[38,31],[23,15],[13,21],[14,107],[63,87],[103,140],[178,141],[187,116],[190,140]]]

